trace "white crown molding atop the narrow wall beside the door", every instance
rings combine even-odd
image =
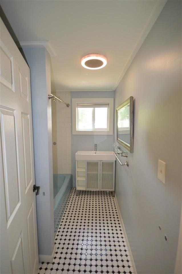
[[[51,57],[57,56],[49,41],[19,42],[18,46],[21,46],[22,48],[45,47]]]

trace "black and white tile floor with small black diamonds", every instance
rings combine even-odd
[[[55,236],[53,263],[40,264],[39,274],[134,273],[130,252],[111,192],[72,188]]]

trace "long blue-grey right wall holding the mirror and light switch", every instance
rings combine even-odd
[[[130,96],[134,152],[129,168],[116,162],[116,196],[137,273],[171,274],[181,213],[181,1],[165,5],[116,89],[115,106]],[[158,159],[166,162],[165,184]]]

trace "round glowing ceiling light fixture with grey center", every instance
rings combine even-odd
[[[81,65],[88,69],[99,69],[105,67],[107,59],[104,55],[98,53],[87,54],[82,57]]]

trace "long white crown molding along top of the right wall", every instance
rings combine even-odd
[[[114,87],[113,90],[116,90],[118,84],[120,83],[120,81],[122,80],[123,76],[125,75],[127,69],[130,67],[135,55],[137,54],[139,48],[141,47],[141,45],[143,44],[145,38],[147,37],[149,31],[151,30],[151,28],[153,27],[155,21],[157,20],[159,14],[161,13],[163,7],[165,6],[167,0],[158,0],[156,5],[154,6],[153,10],[151,11],[151,14],[149,16],[149,19],[147,20],[143,30],[140,33],[140,36],[133,48],[133,51],[130,55],[130,57],[128,58],[122,72],[120,73]]]

